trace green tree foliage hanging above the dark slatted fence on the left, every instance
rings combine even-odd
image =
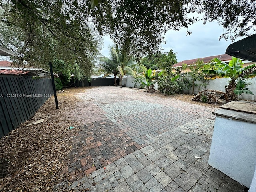
[[[0,45],[16,63],[46,68],[49,61],[78,64],[91,73],[100,38],[93,26],[62,1],[6,0],[1,4]]]

